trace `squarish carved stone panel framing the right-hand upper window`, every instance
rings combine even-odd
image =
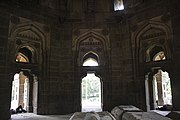
[[[169,20],[165,23],[161,18],[162,16],[157,16],[131,26],[132,47],[134,49],[132,52],[136,64],[144,63],[145,51],[155,45],[162,46],[167,59],[171,58],[171,24]]]

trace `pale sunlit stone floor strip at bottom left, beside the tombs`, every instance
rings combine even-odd
[[[11,115],[11,120],[69,120],[69,115],[36,115],[33,113],[21,113]]]

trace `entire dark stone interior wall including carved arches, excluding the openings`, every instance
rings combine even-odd
[[[0,119],[10,118],[13,75],[21,70],[30,71],[30,78],[37,76],[38,114],[81,111],[81,79],[88,70],[101,77],[103,110],[120,104],[154,109],[154,67],[169,72],[173,109],[180,110],[180,2],[130,0],[124,1],[124,6],[122,11],[113,11],[113,0],[3,0]],[[96,44],[83,43],[91,38]],[[146,62],[147,49],[154,45],[164,49],[165,61]],[[32,63],[15,62],[22,47],[32,52]],[[99,67],[82,67],[87,52],[98,55]],[[147,74],[148,102],[144,84]]]

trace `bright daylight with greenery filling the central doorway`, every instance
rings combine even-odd
[[[81,111],[82,112],[101,112],[102,95],[101,95],[100,78],[94,73],[87,73],[81,83]]]

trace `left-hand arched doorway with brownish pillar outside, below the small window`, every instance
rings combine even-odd
[[[12,78],[11,112],[16,112],[19,106],[26,112],[37,113],[38,81],[31,70],[21,70]]]

